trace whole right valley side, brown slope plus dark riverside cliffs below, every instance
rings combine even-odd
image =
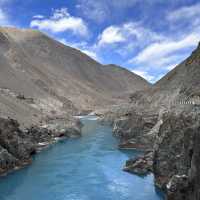
[[[200,98],[199,88],[200,45],[152,88],[132,94],[126,112],[117,117],[112,113],[114,133],[123,141],[120,147],[148,151],[127,161],[124,170],[153,172],[168,200],[200,199],[200,107],[191,104]]]

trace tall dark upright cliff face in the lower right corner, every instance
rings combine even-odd
[[[167,113],[154,146],[153,172],[156,184],[167,191],[168,199],[195,199],[199,187],[196,160],[199,155],[199,114]],[[194,168],[194,169],[193,169]],[[196,198],[198,199],[198,198]]]

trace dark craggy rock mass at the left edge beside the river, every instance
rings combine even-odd
[[[35,144],[19,129],[17,121],[0,119],[0,174],[31,162]]]

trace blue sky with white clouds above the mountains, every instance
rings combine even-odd
[[[41,30],[156,82],[200,41],[199,0],[0,0],[0,25]]]

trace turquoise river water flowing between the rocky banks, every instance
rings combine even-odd
[[[52,145],[32,165],[0,178],[0,200],[162,200],[153,176],[122,171],[136,151],[120,151],[112,129],[81,119],[83,136]]]

